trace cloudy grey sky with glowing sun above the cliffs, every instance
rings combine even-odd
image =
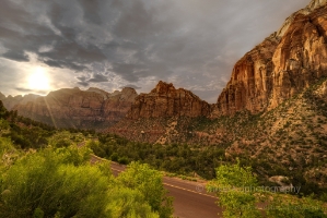
[[[149,93],[215,102],[234,63],[310,0],[1,0],[0,92]]]

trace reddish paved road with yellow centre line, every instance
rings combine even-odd
[[[125,170],[125,166],[112,162],[114,174]],[[176,178],[163,178],[164,187],[174,197],[174,216],[179,218],[217,218],[221,209],[217,197],[206,193],[203,183],[189,182]]]

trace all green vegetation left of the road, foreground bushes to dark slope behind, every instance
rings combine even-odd
[[[1,105],[0,128],[0,217],[172,216],[162,173],[131,162],[114,177],[109,162],[91,165],[90,147],[77,146],[89,132],[55,130]]]

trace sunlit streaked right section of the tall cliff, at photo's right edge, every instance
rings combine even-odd
[[[270,108],[327,76],[327,5],[297,14],[272,57],[273,93]]]

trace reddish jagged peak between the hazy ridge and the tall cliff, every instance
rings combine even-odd
[[[128,119],[201,117],[210,114],[210,105],[198,96],[162,81],[149,94],[140,94],[127,114]]]

